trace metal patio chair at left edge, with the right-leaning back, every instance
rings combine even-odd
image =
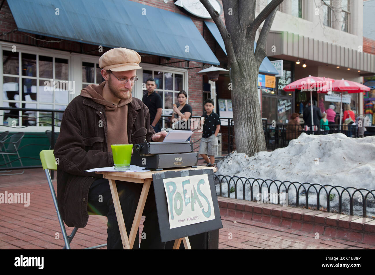
[[[21,163],[21,166],[23,166],[20,154],[18,153],[18,148],[20,147],[21,140],[25,136],[24,132],[18,132],[16,134],[11,135],[10,137],[6,137],[3,141],[0,141],[0,154],[3,156],[3,159],[5,161],[5,157],[7,156],[8,163],[10,163],[10,167],[12,168],[12,163],[10,162],[9,156],[18,156],[18,160]],[[7,141],[9,139],[9,141]],[[12,171],[12,170],[9,170]],[[23,169],[21,173],[13,173],[13,174],[0,174],[0,176],[8,176],[8,175],[21,175],[25,172]]]

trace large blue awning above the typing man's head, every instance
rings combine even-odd
[[[185,15],[129,0],[7,2],[20,31],[219,65]]]

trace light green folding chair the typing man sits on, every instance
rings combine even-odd
[[[58,222],[60,223],[60,228],[61,228],[61,231],[62,231],[63,236],[64,236],[65,246],[63,247],[63,249],[71,249],[70,243],[73,240],[74,235],[78,230],[78,227],[77,226],[74,227],[70,236],[66,235],[64,221],[63,221],[63,219],[60,215],[60,211],[58,211],[56,193],[55,193],[55,189],[54,189],[53,184],[52,184],[51,175],[49,174],[49,170],[54,170],[54,171],[57,170],[57,163],[55,161],[55,156],[53,155],[53,150],[42,150],[42,151],[40,151],[39,156],[40,156],[40,161],[42,161],[43,169],[46,173],[49,190],[51,191],[53,203],[54,203],[55,208],[56,208]],[[91,212],[88,212],[88,213],[89,213],[89,215],[95,215],[95,213],[91,213]],[[101,248],[101,247],[106,247],[106,246],[107,246],[107,244],[101,244],[101,245],[96,245],[96,246],[93,246],[93,247],[88,247],[88,248],[83,248],[83,249],[96,249],[96,248]]]

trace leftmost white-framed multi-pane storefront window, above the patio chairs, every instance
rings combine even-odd
[[[6,48],[6,47],[5,47]],[[12,52],[3,54],[3,106],[32,109],[65,110],[73,84],[68,80],[68,59],[53,56]],[[20,70],[21,68],[21,70]],[[52,81],[51,81],[52,80]],[[41,123],[51,113],[35,111],[4,111],[3,125],[50,126]],[[15,123],[13,125],[13,123]],[[58,125],[59,122],[56,122]]]

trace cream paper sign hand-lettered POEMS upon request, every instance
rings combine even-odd
[[[215,219],[207,174],[163,179],[169,228]]]

